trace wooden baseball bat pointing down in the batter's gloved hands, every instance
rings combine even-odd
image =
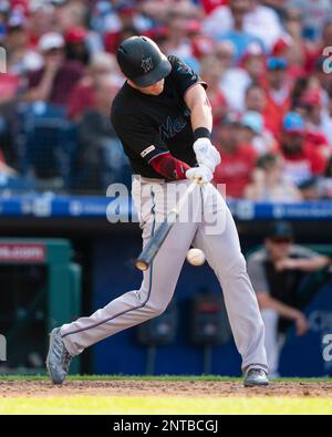
[[[139,256],[135,261],[135,267],[138,270],[145,271],[149,268],[151,263],[153,262],[155,256],[158,253],[158,250],[163,246],[166,237],[168,236],[170,229],[173,228],[174,223],[176,222],[180,210],[183,209],[185,202],[197,187],[198,181],[195,179],[189,187],[187,188],[186,193],[183,195],[180,200],[178,201],[177,206],[173,208],[166,219],[162,222],[155,233],[151,237],[149,241],[146,243]]]

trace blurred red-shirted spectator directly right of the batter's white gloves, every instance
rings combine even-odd
[[[221,164],[214,175],[215,184],[226,184],[226,195],[242,198],[256,166],[257,154],[251,145],[240,143],[240,127],[234,121],[224,121],[217,129],[216,145]]]

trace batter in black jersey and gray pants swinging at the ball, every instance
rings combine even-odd
[[[210,184],[220,156],[210,142],[212,116],[206,84],[181,60],[166,58],[148,38],[132,37],[117,50],[126,82],[112,106],[112,123],[128,156],[132,195],[143,244],[176,199],[167,188],[198,181],[187,199],[190,217],[174,225],[138,290],[129,291],[89,318],[51,332],[46,366],[62,384],[71,360],[86,347],[160,314],[172,300],[190,246],[201,249],[222,287],[245,385],[267,385],[264,331],[246,270],[237,229],[222,197]],[[174,186],[175,185],[175,186]],[[166,200],[165,200],[166,199]],[[211,219],[222,227],[211,231]]]

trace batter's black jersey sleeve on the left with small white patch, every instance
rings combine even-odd
[[[139,121],[139,117],[112,114],[111,121],[123,146],[132,154],[139,155],[147,164],[155,157],[169,153],[158,132],[143,119]]]

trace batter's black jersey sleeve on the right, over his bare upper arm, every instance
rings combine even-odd
[[[168,56],[168,61],[172,64],[172,81],[181,97],[193,85],[197,83],[200,83],[205,89],[207,89],[207,84],[200,79],[200,76],[179,58],[170,55]]]

